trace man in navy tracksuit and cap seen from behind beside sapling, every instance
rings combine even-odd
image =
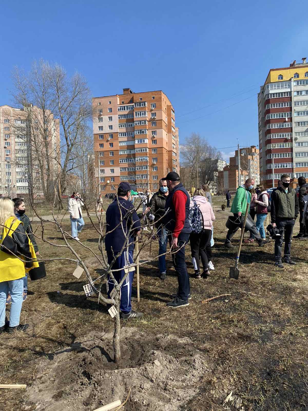
[[[107,252],[108,264],[112,270],[123,268],[133,263],[134,234],[140,232],[140,219],[134,210],[133,204],[129,201],[131,195],[131,186],[127,182],[121,182],[117,189],[117,198],[109,205],[106,211],[106,238],[105,248]],[[122,220],[122,222],[121,222]],[[131,231],[130,231],[131,230]],[[129,234],[130,233],[130,234]],[[129,237],[127,238],[127,234]],[[127,255],[126,246],[129,245]],[[123,245],[125,246],[124,249]],[[131,309],[131,287],[133,284],[134,271],[129,272],[120,291],[120,318],[132,319],[141,317],[141,312],[135,312]],[[114,271],[113,275],[118,283],[125,276],[124,269]],[[108,275],[108,298],[114,288],[114,282]]]

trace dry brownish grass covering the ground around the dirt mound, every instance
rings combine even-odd
[[[221,204],[219,199],[215,202]],[[186,405],[187,410],[222,410],[223,399],[231,390],[243,399],[245,410],[308,409],[308,242],[294,240],[292,258],[297,266],[280,270],[274,267],[274,242],[262,249],[245,244],[239,280],[229,279],[235,250],[223,247],[227,216],[227,212],[216,211],[215,271],[207,280],[191,278],[193,300],[189,307],[174,311],[166,307],[169,294],[177,288],[177,278],[169,261],[168,278],[161,282],[157,261],[153,261],[140,269],[141,300],[140,304],[133,302],[145,316],[127,326],[137,324],[153,338],[161,333],[188,336],[207,356],[210,372],[200,375],[200,394]],[[48,236],[62,243],[51,226],[49,230]],[[95,238],[86,221],[81,240],[95,249]],[[239,234],[234,242],[238,238]],[[65,249],[40,242],[39,246],[45,257],[59,256],[60,252],[69,256]],[[83,257],[88,256],[79,245],[77,249]],[[188,261],[190,250],[186,249]],[[144,257],[148,254],[148,250],[143,252]],[[85,298],[85,277],[72,277],[74,268],[68,261],[53,261],[47,264],[45,279],[29,279],[29,297],[21,319],[30,323],[30,328],[25,335],[1,335],[1,383],[30,384],[35,379],[35,363],[41,358],[52,358],[92,330],[102,332],[113,326],[105,307],[97,305],[94,298]],[[193,274],[190,264],[188,271]],[[231,297],[202,304],[225,293]],[[0,409],[19,410],[22,401],[23,391],[2,390]]]

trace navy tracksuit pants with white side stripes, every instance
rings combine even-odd
[[[108,258],[108,264],[110,264],[111,261],[113,261],[113,252],[107,251],[107,258]],[[127,260],[126,251],[123,251],[122,254],[115,260],[111,269],[117,270],[131,263],[133,263],[133,250],[129,251],[128,260]],[[115,277],[117,282],[120,283],[122,278],[125,276],[124,269],[121,271],[114,271],[113,276]],[[120,311],[122,311],[122,313],[124,314],[128,314],[129,312],[131,312],[131,287],[133,284],[133,276],[134,276],[134,271],[131,271],[128,273],[126,279],[124,280],[124,283],[121,286],[121,290],[120,290]],[[113,280],[110,278],[109,275],[107,279],[108,279],[107,295],[108,295],[108,298],[110,298],[110,292],[113,290],[115,283],[113,282]]]

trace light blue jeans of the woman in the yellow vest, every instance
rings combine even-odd
[[[9,326],[19,326],[21,306],[23,305],[23,278],[0,282],[0,327],[5,325],[5,303],[8,294],[11,294],[11,309],[9,312]]]

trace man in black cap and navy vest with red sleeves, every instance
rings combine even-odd
[[[185,244],[189,241],[191,225],[188,221],[190,197],[183,184],[180,182],[179,175],[175,171],[162,178],[167,182],[169,195],[165,203],[165,227],[171,233],[171,251],[174,254],[174,265],[177,271],[179,290],[175,299],[167,303],[168,307],[178,308],[189,305],[190,295],[189,277],[185,263]]]

